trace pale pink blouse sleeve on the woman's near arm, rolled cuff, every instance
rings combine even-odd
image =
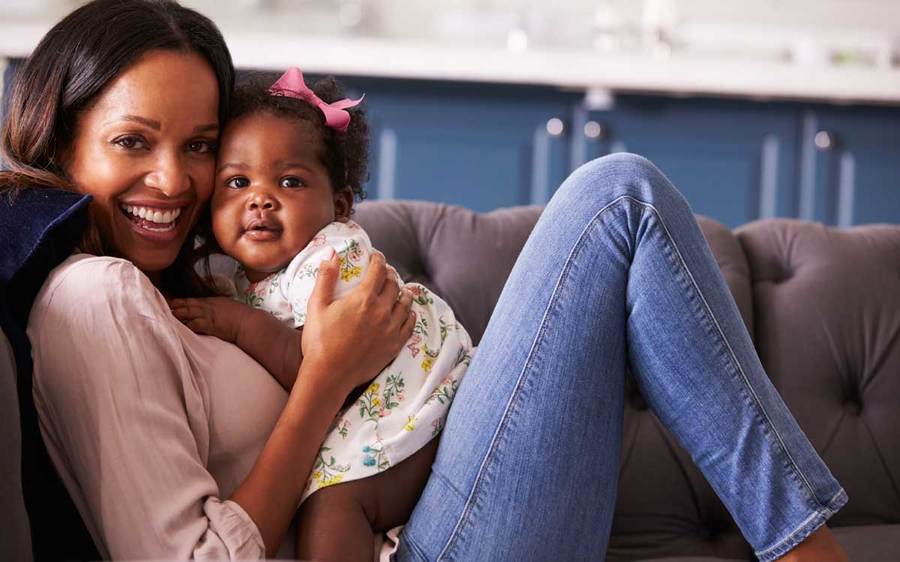
[[[263,558],[206,469],[208,413],[169,314],[124,260],[70,258],[51,275],[28,329],[47,448],[106,557]]]

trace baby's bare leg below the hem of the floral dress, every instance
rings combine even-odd
[[[297,558],[371,562],[375,533],[406,523],[431,473],[437,439],[369,478],[322,488],[297,516]]]

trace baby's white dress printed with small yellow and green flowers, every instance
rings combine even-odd
[[[334,294],[341,298],[362,280],[372,252],[369,236],[353,221],[330,223],[287,267],[261,281],[251,283],[239,267],[234,278],[237,298],[295,328],[302,326],[319,263],[328,259],[331,248],[340,256]],[[301,503],[320,488],[390,468],[443,428],[472,358],[472,340],[440,297],[417,283],[405,287],[414,295],[413,336],[365,392],[338,413]]]

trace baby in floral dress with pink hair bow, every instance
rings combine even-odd
[[[244,304],[172,302],[191,329],[234,342],[288,389],[300,362],[293,329],[306,321],[319,263],[336,252],[340,298],[359,284],[373,252],[350,220],[354,195],[362,193],[368,129],[358,101],[322,101],[341,97],[333,80],[313,92],[296,68],[270,87],[236,90],[211,212],[216,242],[240,263],[233,282]],[[473,348],[443,300],[422,285],[405,290],[413,296],[413,336],[335,418],[301,499],[301,559],[371,560],[374,533],[406,521],[428,477],[434,438]],[[288,335],[260,314],[290,326]],[[306,502],[314,493],[317,501]]]

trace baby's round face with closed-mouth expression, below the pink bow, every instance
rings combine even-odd
[[[322,140],[309,123],[249,114],[225,127],[213,233],[250,281],[285,267],[328,223],[349,214],[349,190],[335,192],[322,163]]]

